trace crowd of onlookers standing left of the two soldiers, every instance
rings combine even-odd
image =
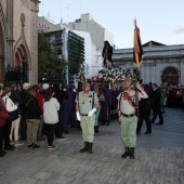
[[[24,83],[21,89],[14,82],[8,87],[1,83],[0,157],[5,156],[6,150],[22,146],[24,140],[27,140],[28,148],[39,148],[38,141],[45,136],[48,149],[54,149],[53,140],[65,140],[63,134],[69,133],[69,127],[81,129],[76,117],[76,96],[74,86]],[[108,124],[109,93],[101,95],[101,120]],[[94,128],[98,132],[98,119],[96,121]]]

